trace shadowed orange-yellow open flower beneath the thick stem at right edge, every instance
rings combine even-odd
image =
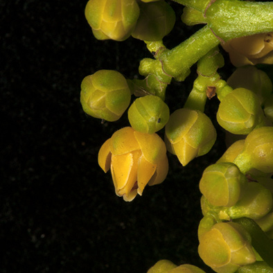
[[[230,39],[222,44],[236,67],[247,64],[273,64],[273,33],[258,33]]]

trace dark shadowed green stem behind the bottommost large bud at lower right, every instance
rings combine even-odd
[[[261,227],[250,218],[239,218],[234,220],[234,222],[238,222],[238,224],[241,224],[247,230],[252,237],[252,245],[256,249],[256,252],[258,252],[267,265],[273,267],[273,240],[268,238]]]

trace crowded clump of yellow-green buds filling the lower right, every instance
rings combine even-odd
[[[204,170],[200,180],[204,218],[198,230],[198,251],[215,272],[236,272],[258,257],[253,252],[259,247],[252,245],[253,234],[250,236],[245,227],[230,220],[252,219],[268,238],[272,237],[272,174],[272,126],[252,130]],[[263,253],[260,255],[263,258]]]

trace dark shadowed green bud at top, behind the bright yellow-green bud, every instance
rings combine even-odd
[[[175,25],[175,12],[165,1],[139,3],[140,15],[132,37],[143,41],[163,39]]]

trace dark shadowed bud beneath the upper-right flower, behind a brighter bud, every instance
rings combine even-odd
[[[272,92],[272,82],[262,70],[253,65],[239,67],[229,77],[227,84],[233,89],[245,88],[254,92],[263,104]]]

